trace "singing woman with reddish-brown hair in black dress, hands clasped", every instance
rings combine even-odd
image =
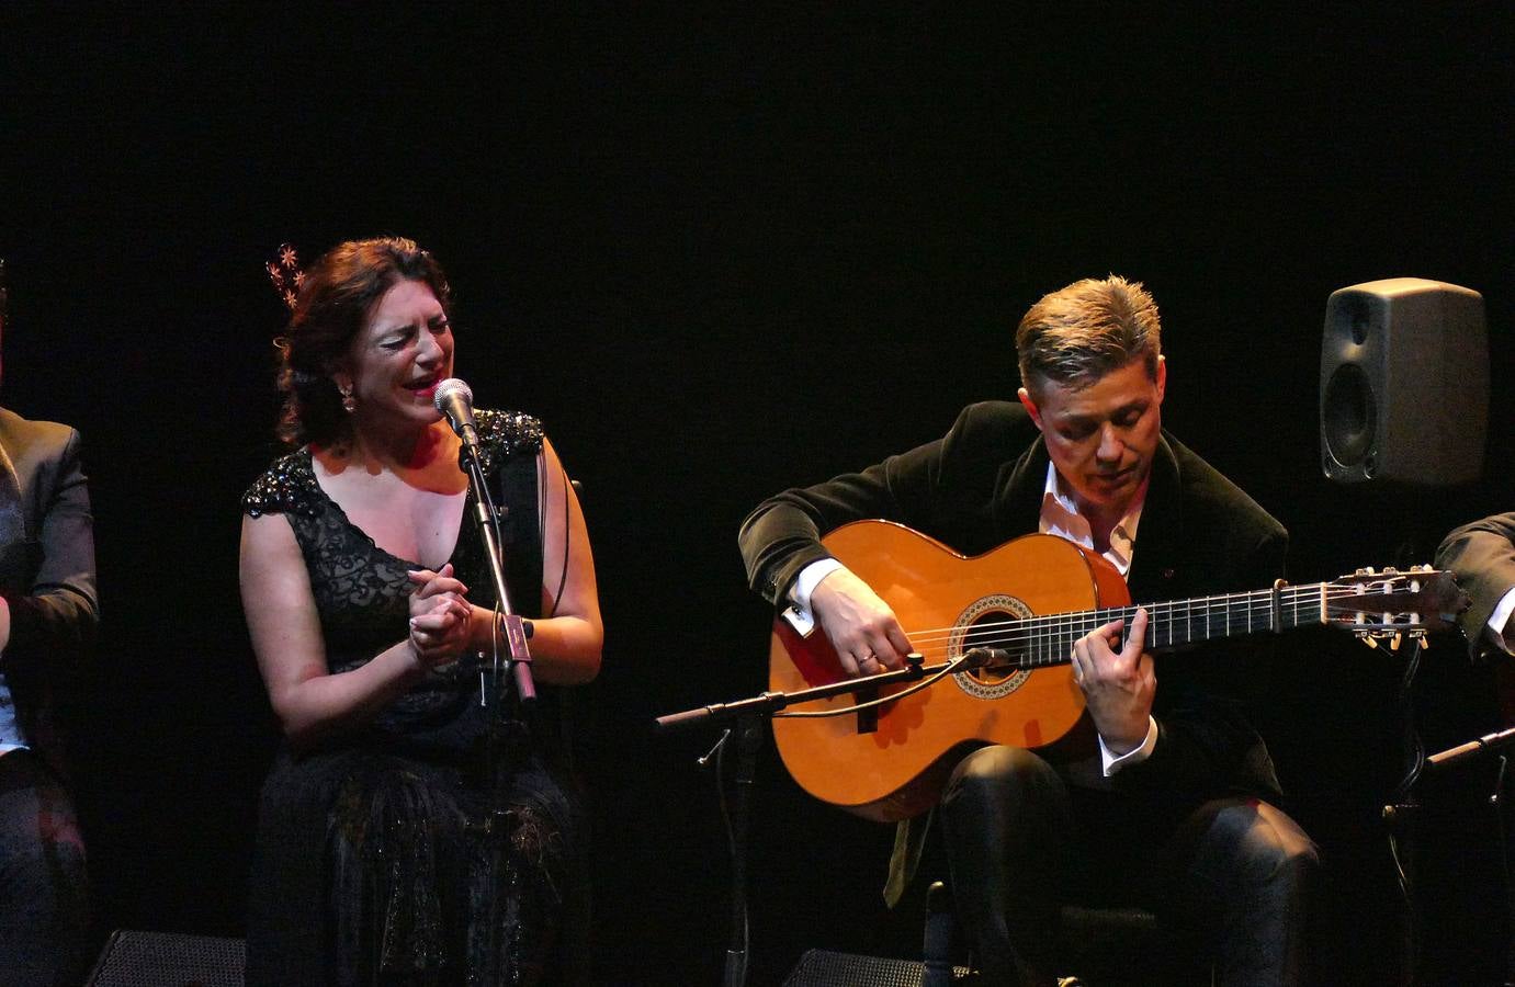
[[[286,737],[259,813],[248,984],[585,976],[583,824],[551,731],[491,724],[501,702],[479,702],[497,613],[459,439],[432,403],[448,316],[441,268],[406,239],[336,247],[295,298],[295,451],[242,500],[242,602]],[[536,680],[589,681],[603,631],[573,486],[535,419],[476,419]]]

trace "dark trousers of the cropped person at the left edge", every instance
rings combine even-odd
[[[85,845],[73,802],[30,751],[0,755],[0,984],[77,987],[89,964]]]

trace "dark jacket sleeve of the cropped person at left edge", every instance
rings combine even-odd
[[[38,471],[42,498],[41,560],[30,592],[6,595],[11,642],[6,659],[79,655],[92,642],[95,602],[94,530],[79,433],[68,431],[59,456]]]

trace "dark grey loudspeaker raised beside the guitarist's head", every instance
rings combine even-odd
[[[1330,480],[1471,483],[1483,469],[1488,406],[1479,292],[1420,277],[1332,292],[1320,391]]]

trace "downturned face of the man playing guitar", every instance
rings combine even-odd
[[[1071,388],[1041,381],[1035,398],[1020,398],[1047,442],[1047,453],[1080,509],[1118,519],[1151,472],[1162,431],[1162,394],[1168,365],[1157,357],[1157,378],[1142,360]]]

